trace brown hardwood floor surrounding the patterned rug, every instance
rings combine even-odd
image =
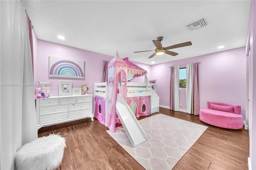
[[[160,113],[208,126],[174,170],[248,170],[248,130],[214,127],[200,121],[199,116],[164,108]],[[95,118],[81,119],[40,128],[38,137],[60,132],[66,138],[62,170],[144,170],[106,130]]]

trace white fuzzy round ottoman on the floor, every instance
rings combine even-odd
[[[52,170],[60,166],[65,138],[50,134],[24,144],[15,155],[16,170]]]

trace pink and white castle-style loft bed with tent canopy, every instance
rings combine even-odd
[[[94,117],[111,132],[115,132],[119,119],[116,115],[116,96],[122,94],[136,117],[150,114],[150,96],[152,88],[148,84],[147,71],[121,59],[116,53],[108,63],[108,82],[94,83]],[[128,82],[136,77],[145,76],[144,83]]]

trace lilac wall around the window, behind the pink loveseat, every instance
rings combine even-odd
[[[245,47],[152,65],[151,77],[157,81],[156,91],[160,97],[160,105],[170,105],[169,66],[197,62],[201,62],[200,108],[207,108],[207,101],[233,103],[241,105],[241,114],[245,119]]]

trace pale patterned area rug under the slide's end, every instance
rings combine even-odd
[[[139,120],[148,140],[132,147],[124,128],[108,134],[146,170],[171,170],[208,128],[163,114]]]

